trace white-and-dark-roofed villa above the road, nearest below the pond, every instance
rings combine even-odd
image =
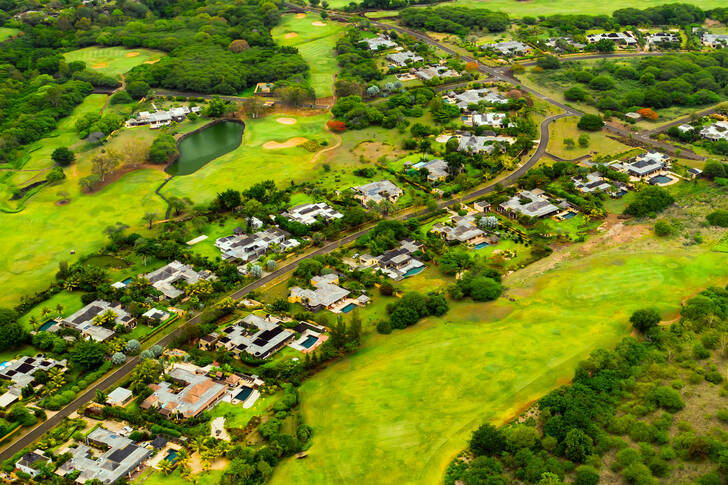
[[[215,241],[215,246],[222,252],[222,259],[234,259],[243,263],[257,261],[258,258],[270,250],[279,253],[300,246],[290,234],[278,227],[269,227],[265,231],[253,235],[240,234],[221,237]]]

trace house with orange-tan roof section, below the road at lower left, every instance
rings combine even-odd
[[[150,384],[149,388],[154,392],[142,402],[142,409],[158,409],[165,418],[193,418],[217,404],[227,390],[227,384],[179,365],[172,368],[167,376],[174,385],[166,381]]]

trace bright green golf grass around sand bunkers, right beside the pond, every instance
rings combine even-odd
[[[276,119],[280,117],[294,118],[296,123],[278,123]],[[268,141],[285,142],[294,137],[331,144],[334,137],[325,130],[328,120],[326,114],[277,114],[248,120],[240,147],[213,160],[194,174],[175,177],[165,186],[164,194],[190,197],[196,203],[204,203],[228,187],[245,189],[270,179],[279,184],[288,184],[291,180],[315,180],[322,163],[321,160],[313,161],[314,153],[302,146],[267,150],[263,145]]]

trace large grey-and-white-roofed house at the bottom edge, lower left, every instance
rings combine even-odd
[[[94,450],[100,448],[99,451]],[[152,450],[137,446],[136,443],[118,433],[104,428],[96,428],[87,437],[85,444],[65,450],[71,459],[56,469],[56,474],[67,476],[74,471],[80,472],[76,483],[84,484],[89,480],[99,480],[113,484],[121,479],[129,479],[141,470]]]

